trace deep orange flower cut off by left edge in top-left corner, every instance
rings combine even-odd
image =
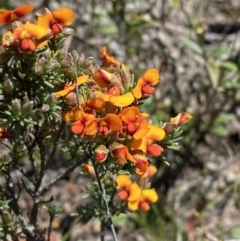
[[[34,5],[26,4],[15,8],[14,10],[0,10],[0,23],[10,23],[29,14],[34,9]]]

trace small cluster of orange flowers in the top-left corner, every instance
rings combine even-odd
[[[2,37],[2,46],[5,49],[31,53],[46,46],[49,39],[61,33],[64,26],[74,21],[74,13],[67,7],[53,12],[45,9],[43,13],[37,14],[37,24],[31,23],[30,20],[26,20],[25,23],[19,21],[19,18],[33,9],[32,4],[27,4],[13,11],[1,11],[0,23],[8,23],[10,26],[9,31]]]

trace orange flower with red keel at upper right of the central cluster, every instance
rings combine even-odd
[[[157,69],[147,70],[137,81],[137,85],[133,89],[133,95],[136,99],[149,97],[154,92],[154,85],[160,81],[159,71]]]

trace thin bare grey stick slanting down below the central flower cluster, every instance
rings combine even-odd
[[[94,158],[91,158],[91,160],[92,160],[94,172],[96,174],[96,179],[97,179],[98,187],[99,187],[99,190],[100,190],[100,194],[102,196],[102,200],[103,200],[103,203],[104,203],[104,206],[105,206],[105,209],[106,209],[108,223],[109,223],[111,231],[112,231],[113,239],[114,239],[114,241],[118,241],[117,234],[116,234],[116,231],[115,231],[115,228],[114,228],[114,225],[113,225],[113,221],[112,221],[112,216],[111,216],[111,213],[110,213],[110,210],[109,210],[109,207],[108,207],[108,202],[107,202],[107,199],[106,199],[106,196],[105,196],[105,191],[103,189],[103,186],[102,186],[102,183],[100,181],[99,174],[98,174],[98,171],[97,171],[97,166],[96,166]],[[101,240],[104,241],[104,236],[101,237]]]

